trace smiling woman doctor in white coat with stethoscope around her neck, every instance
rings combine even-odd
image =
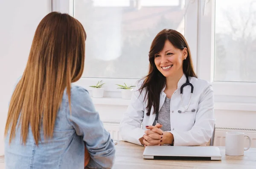
[[[215,124],[213,90],[197,78],[186,39],[172,29],[160,31],[149,62],[120,123],[122,139],[145,146],[206,144]]]

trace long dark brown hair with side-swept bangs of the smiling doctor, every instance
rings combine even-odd
[[[186,60],[183,61],[183,73],[187,76],[197,77],[193,68],[192,58],[189,50],[189,45],[186,42],[185,37],[179,32],[172,29],[164,29],[160,31],[151,43],[149,51],[149,71],[148,75],[145,76],[143,85],[140,87],[140,92],[145,88],[146,95],[144,100],[148,100],[146,107],[147,115],[150,115],[151,107],[154,107],[153,113],[159,111],[160,93],[163,87],[166,85],[166,77],[160,73],[154,63],[154,56],[162,51],[164,44],[168,40],[172,43],[175,48],[183,50],[187,48],[188,55]]]

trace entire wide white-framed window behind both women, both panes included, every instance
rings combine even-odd
[[[152,40],[173,28],[188,41],[198,76],[212,82],[215,101],[255,103],[256,0],[64,2],[63,12],[77,18],[88,35],[79,85],[90,90],[103,80],[105,96],[119,97],[115,84],[134,85],[145,76]]]

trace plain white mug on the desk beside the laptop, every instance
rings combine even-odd
[[[249,139],[249,146],[244,149],[244,137]],[[251,139],[244,132],[226,132],[226,155],[241,156],[244,155],[244,150],[250,149]]]

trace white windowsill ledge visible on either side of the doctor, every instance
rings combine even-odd
[[[93,98],[94,104],[101,105],[119,105],[119,106],[128,106],[131,102],[131,99],[122,99],[122,98]],[[237,111],[255,111],[255,103],[239,103],[239,102],[215,102],[215,110],[237,110]]]

